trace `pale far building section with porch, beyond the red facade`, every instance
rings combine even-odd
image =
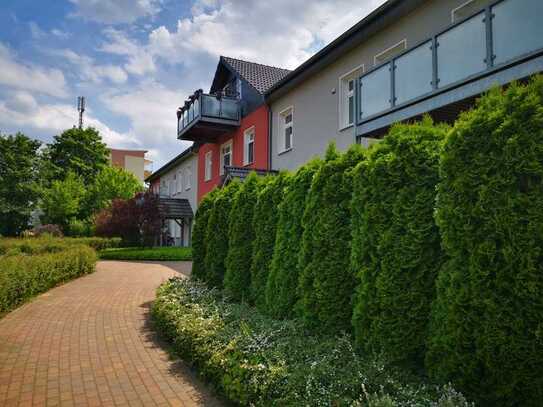
[[[160,245],[190,246],[198,205],[198,153],[192,147],[148,176],[149,190],[159,197],[163,220]]]

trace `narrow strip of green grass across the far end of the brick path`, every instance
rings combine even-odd
[[[192,260],[190,247],[124,247],[105,249],[98,253],[101,260]]]

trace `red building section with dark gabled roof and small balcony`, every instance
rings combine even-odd
[[[289,72],[220,57],[209,93],[197,90],[178,110],[178,138],[198,152],[198,201],[225,180],[270,170],[264,94]]]

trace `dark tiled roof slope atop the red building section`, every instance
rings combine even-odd
[[[264,94],[290,73],[288,69],[277,68],[275,66],[262,65],[230,57],[221,58],[261,94]]]

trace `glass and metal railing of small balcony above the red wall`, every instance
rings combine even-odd
[[[235,97],[196,92],[180,109],[178,117],[179,134],[199,119],[218,119],[232,121],[235,124],[240,119],[240,100]]]

